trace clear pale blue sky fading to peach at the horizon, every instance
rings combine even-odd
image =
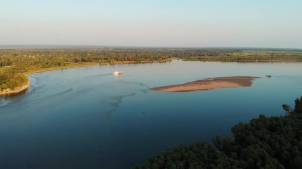
[[[302,48],[302,0],[0,0],[0,45]]]

